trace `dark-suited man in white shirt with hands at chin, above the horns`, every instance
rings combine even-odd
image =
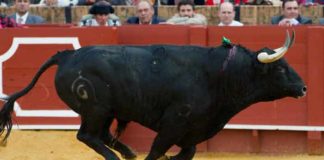
[[[278,24],[279,26],[292,26],[298,24],[312,24],[310,18],[301,16],[299,14],[299,6],[296,0],[284,0],[282,2],[281,16],[274,16],[271,18],[272,24]]]

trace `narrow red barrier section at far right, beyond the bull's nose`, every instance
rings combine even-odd
[[[311,90],[307,96],[308,125],[323,126],[324,124],[324,29],[312,27],[307,36],[307,63],[308,63],[308,87]],[[309,131],[308,152],[320,154],[323,152],[323,132]]]

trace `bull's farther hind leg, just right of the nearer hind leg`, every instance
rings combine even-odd
[[[113,118],[109,118],[106,120],[104,131],[102,134],[102,140],[110,148],[113,148],[116,151],[118,151],[123,156],[123,158],[135,159],[136,154],[130,149],[130,147],[121,143],[118,139],[116,141],[114,140],[114,137],[111,135],[110,130],[109,130],[112,122],[113,122]]]

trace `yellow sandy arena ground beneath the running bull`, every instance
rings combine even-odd
[[[76,131],[19,131],[11,133],[0,160],[103,160],[80,143]],[[137,160],[144,159],[145,154]],[[194,160],[323,160],[323,156],[198,153]]]

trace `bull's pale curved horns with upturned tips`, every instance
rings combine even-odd
[[[287,31],[285,44],[280,48],[274,49],[274,51],[275,51],[274,54],[268,55],[268,53],[266,53],[266,52],[259,53],[258,60],[261,63],[271,63],[271,62],[274,62],[274,61],[280,59],[281,57],[283,57],[285,55],[285,53],[288,51],[288,48],[290,48],[292,46],[294,41],[295,41],[295,31],[293,31],[291,38],[289,36],[289,32]]]

